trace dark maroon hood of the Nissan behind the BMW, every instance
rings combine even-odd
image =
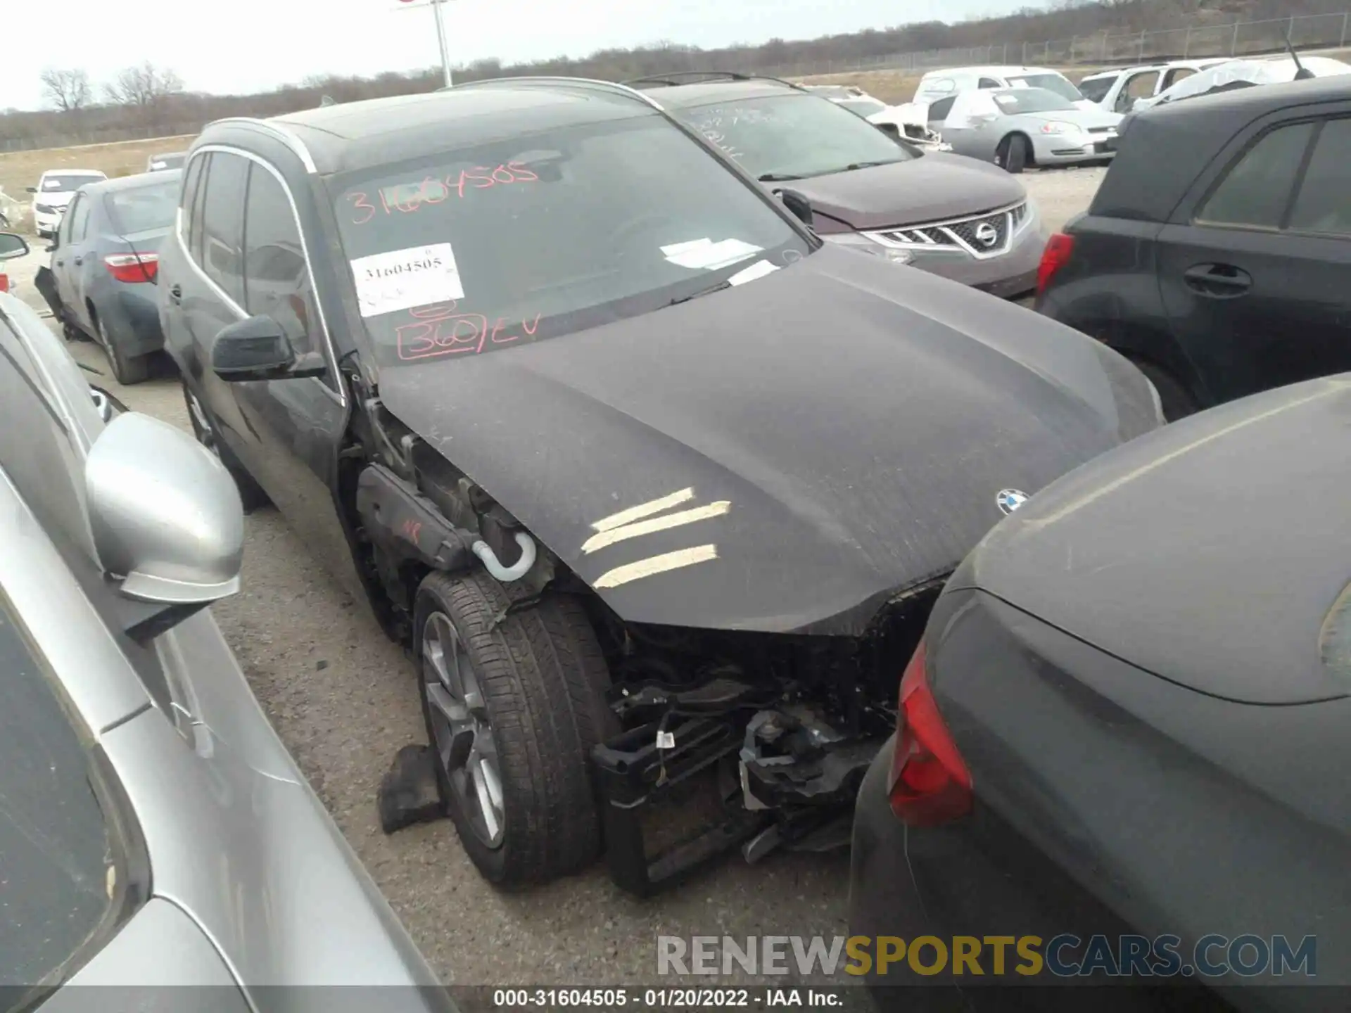
[[[819,216],[834,219],[835,227],[817,223],[823,234],[943,222],[1027,200],[1023,184],[998,166],[943,153],[782,185],[811,200]]]

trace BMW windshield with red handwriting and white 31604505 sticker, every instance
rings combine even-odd
[[[811,253],[750,184],[651,113],[328,185],[385,365],[512,348],[659,311]]]

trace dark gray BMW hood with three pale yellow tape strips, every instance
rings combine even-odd
[[[769,632],[863,632],[951,573],[1001,489],[1035,492],[1156,424],[1148,382],[1084,335],[832,247],[378,381],[620,616]]]

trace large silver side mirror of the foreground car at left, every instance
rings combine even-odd
[[[119,415],[85,461],[89,528],[145,642],[239,590],[243,506],[224,465],[182,430]]]

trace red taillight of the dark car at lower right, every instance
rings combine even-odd
[[[912,827],[935,827],[971,812],[971,773],[938,712],[923,643],[901,677],[890,798],[892,812]]]

